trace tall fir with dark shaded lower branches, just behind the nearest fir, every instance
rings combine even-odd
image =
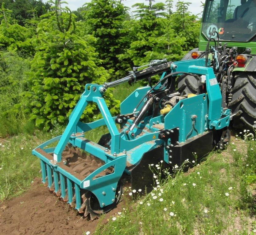
[[[120,78],[120,73],[127,69],[128,65],[118,60],[129,42],[126,40],[123,23],[129,17],[127,7],[121,1],[114,0],[92,0],[87,3],[83,12],[86,20],[86,32],[95,36],[93,44],[102,66],[109,70],[111,78]],[[121,75],[121,76],[122,76]]]

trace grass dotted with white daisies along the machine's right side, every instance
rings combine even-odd
[[[255,174],[256,144],[234,141],[188,174],[178,169],[161,181],[156,172],[154,190],[132,204],[128,199],[94,234],[256,234],[255,185],[246,183]]]

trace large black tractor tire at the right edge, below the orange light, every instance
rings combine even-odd
[[[233,116],[233,127],[250,130],[256,128],[256,73],[237,73],[231,94],[228,107],[236,114]]]

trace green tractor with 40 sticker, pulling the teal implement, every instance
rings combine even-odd
[[[256,128],[256,0],[206,0],[199,48],[182,60],[209,58],[236,129]],[[201,94],[204,76],[184,75],[178,91]]]

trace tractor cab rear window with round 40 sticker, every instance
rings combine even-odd
[[[208,0],[202,33],[224,41],[256,41],[256,0]]]

